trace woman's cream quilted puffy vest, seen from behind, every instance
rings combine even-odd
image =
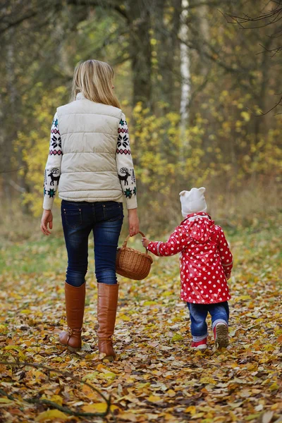
[[[85,99],[57,109],[63,157],[59,197],[73,201],[123,201],[116,168],[121,110]]]

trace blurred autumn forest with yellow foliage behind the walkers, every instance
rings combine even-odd
[[[116,72],[143,231],[168,233],[192,186],[231,228],[277,216],[281,18],[280,0],[1,1],[1,236],[39,232],[51,121],[90,58]]]

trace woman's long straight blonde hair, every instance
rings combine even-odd
[[[121,108],[118,99],[112,90],[114,69],[99,60],[80,61],[75,66],[71,102],[75,100],[78,92],[95,103],[109,104]]]

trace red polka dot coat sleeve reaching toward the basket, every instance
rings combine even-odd
[[[148,250],[157,256],[171,256],[182,251],[188,245],[188,235],[182,226],[178,226],[170,235],[166,243],[151,241]]]

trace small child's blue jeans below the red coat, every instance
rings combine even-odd
[[[207,313],[212,316],[212,329],[218,323],[228,325],[229,307],[228,302],[218,302],[217,304],[193,304],[188,302],[190,312],[191,333],[193,341],[202,341],[207,337]]]

